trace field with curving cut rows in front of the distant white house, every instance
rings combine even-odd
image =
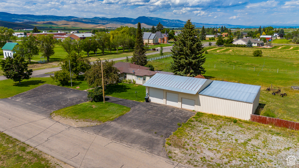
[[[262,50],[263,56],[299,57],[299,46],[275,46],[273,48],[217,47],[207,51],[213,54],[252,55],[255,50]]]

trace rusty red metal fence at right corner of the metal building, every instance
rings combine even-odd
[[[299,130],[299,123],[294,121],[282,120],[279,118],[271,118],[254,114],[250,114],[250,120],[257,123],[273,124],[274,126],[278,127]]]

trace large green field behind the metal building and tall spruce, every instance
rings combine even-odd
[[[281,46],[280,46],[281,47]],[[280,48],[276,47],[276,48]],[[288,50],[266,49],[280,54],[288,54]],[[287,48],[290,48],[289,46]],[[213,53],[208,51],[204,68],[204,76],[210,80],[224,80],[228,82],[239,82],[251,85],[260,85],[260,103],[264,106],[262,115],[274,114],[285,120],[299,122],[299,91],[292,90],[291,86],[299,86],[299,57],[289,56],[262,56],[251,55],[255,48],[208,48],[215,51],[224,49],[224,52]],[[248,50],[247,54],[225,53],[230,50]],[[298,52],[298,51],[295,51]],[[269,54],[270,55],[270,54]],[[169,67],[173,59],[171,57],[150,62],[155,70],[170,71]],[[278,73],[277,73],[278,69]],[[273,96],[266,91],[269,86],[282,88],[282,93],[287,96]],[[266,115],[267,116],[267,115]]]

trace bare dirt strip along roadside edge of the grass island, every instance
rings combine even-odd
[[[85,126],[96,126],[100,125],[102,122],[99,121],[92,121],[92,120],[78,120],[78,119],[71,119],[62,117],[60,115],[55,115],[54,113],[51,114],[52,119],[55,121],[59,121],[60,123],[67,124],[73,127],[85,127]]]

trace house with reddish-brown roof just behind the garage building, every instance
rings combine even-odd
[[[129,62],[116,62],[114,64],[119,71],[119,79],[130,79],[135,80],[136,84],[144,84],[148,81],[152,76],[157,74],[157,72],[149,71],[148,67],[132,64]]]

